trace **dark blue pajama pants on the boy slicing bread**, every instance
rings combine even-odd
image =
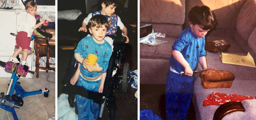
[[[165,105],[167,120],[184,120],[193,95],[193,76],[179,75],[169,70]]]

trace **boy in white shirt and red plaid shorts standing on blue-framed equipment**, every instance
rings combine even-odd
[[[44,20],[42,20],[41,22],[39,22],[38,24],[36,24],[36,19],[35,19],[35,15],[36,15],[36,9],[37,9],[37,5],[35,2],[30,1],[26,4],[26,16],[24,16],[21,24],[18,26],[18,34],[16,36],[16,45],[15,47],[19,47],[19,49],[17,49],[14,53],[13,56],[9,59],[10,62],[13,63],[20,63],[18,61],[18,59],[16,58],[19,53],[23,51],[23,60],[21,62],[21,65],[26,65],[28,66],[27,63],[27,57],[28,57],[28,48],[30,45],[30,39],[31,39],[31,35],[34,31],[34,29],[38,28],[39,26],[41,26],[42,24],[44,24]]]

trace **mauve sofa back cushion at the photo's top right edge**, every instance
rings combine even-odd
[[[244,40],[248,40],[256,28],[256,0],[248,0],[244,3],[236,19],[236,29]]]

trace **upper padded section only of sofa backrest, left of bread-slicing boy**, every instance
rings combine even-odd
[[[140,22],[182,25],[185,20],[185,0],[140,0]]]

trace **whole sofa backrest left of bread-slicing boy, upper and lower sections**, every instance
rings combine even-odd
[[[185,0],[140,0],[140,26],[152,24],[154,32],[178,37],[185,20]]]

